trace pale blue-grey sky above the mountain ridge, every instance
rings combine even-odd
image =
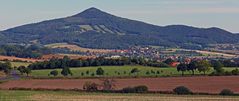
[[[239,0],[0,0],[0,30],[91,7],[159,26],[220,27],[239,33]]]

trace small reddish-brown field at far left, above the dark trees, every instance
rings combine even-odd
[[[1,56],[1,55],[0,55],[0,61],[3,61],[3,60],[9,60],[9,61],[19,60],[19,61],[27,61],[27,62],[42,61],[42,60],[39,60],[39,59],[18,58],[18,57],[14,57],[14,56]]]

